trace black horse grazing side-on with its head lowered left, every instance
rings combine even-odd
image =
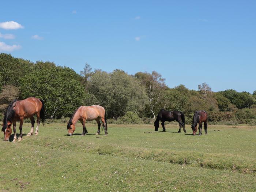
[[[185,129],[185,116],[184,113],[180,111],[166,111],[164,109],[161,109],[160,112],[157,115],[157,120],[155,120],[155,131],[158,131],[159,128],[159,121],[162,121],[161,125],[163,127],[163,131],[165,131],[165,121],[178,121],[181,127],[183,128],[183,131],[186,133]],[[180,133],[180,129],[178,133]]]

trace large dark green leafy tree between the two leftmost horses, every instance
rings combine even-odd
[[[20,81],[20,97],[44,99],[48,118],[69,116],[86,99],[80,76],[74,70],[54,63],[35,63]]]

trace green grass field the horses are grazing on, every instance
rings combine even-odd
[[[2,132],[0,191],[256,191],[256,127],[209,125],[202,136],[189,125],[176,133],[177,123],[109,124],[108,136],[86,127],[68,137],[66,124],[41,125],[16,143]]]

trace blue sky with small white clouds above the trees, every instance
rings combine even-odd
[[[9,0],[0,6],[0,52],[76,72],[86,62],[108,72],[155,70],[169,87],[206,82],[252,93],[255,10],[250,0]]]

